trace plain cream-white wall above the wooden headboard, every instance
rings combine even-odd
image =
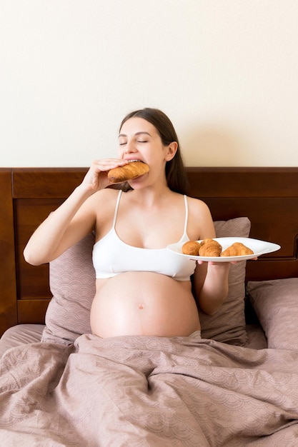
[[[188,166],[298,166],[297,0],[0,0],[0,166],[116,155],[172,119]]]

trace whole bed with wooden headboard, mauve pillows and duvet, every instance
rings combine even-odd
[[[201,339],[93,336],[92,234],[26,264],[29,236],[85,173],[0,169],[0,444],[298,445],[298,168],[187,168],[218,237],[281,246],[232,266]]]

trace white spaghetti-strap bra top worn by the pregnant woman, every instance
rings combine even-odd
[[[196,268],[195,261],[169,251],[167,248],[139,248],[121,241],[115,230],[121,193],[120,190],[111,230],[94,244],[92,261],[96,278],[111,278],[127,271],[150,271],[171,276],[177,281],[189,281]],[[184,233],[179,243],[189,241],[187,196],[184,196],[184,204]]]

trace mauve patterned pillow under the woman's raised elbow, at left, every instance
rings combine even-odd
[[[91,233],[50,262],[49,285],[53,298],[46,310],[41,341],[70,344],[82,333],[91,333],[90,309],[95,295],[91,257],[94,241]]]

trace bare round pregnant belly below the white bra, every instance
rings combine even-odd
[[[100,337],[189,336],[200,328],[189,282],[149,272],[97,281],[91,329]]]

